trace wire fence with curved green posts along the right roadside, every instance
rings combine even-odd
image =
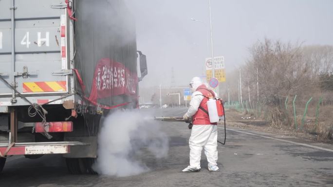
[[[296,130],[317,133],[318,125],[321,124],[326,125],[329,131],[332,129],[333,132],[333,104],[324,102],[323,97],[298,99],[295,95],[281,99],[274,106],[266,103],[264,101],[225,102],[224,107],[268,122],[273,122],[273,116],[277,115],[283,125]]]

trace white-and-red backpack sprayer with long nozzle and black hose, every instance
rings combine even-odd
[[[225,144],[225,139],[226,139],[226,129],[225,129],[225,111],[224,111],[224,105],[221,99],[219,98],[210,98],[207,101],[207,106],[208,106],[208,111],[203,109],[202,107],[199,107],[199,109],[203,110],[206,114],[209,116],[209,121],[211,123],[215,123],[220,121],[223,117],[224,121],[224,142],[222,143],[221,141],[218,140],[219,143]],[[184,121],[188,124],[188,129],[192,129],[193,126],[193,120],[190,119],[184,119],[183,117],[155,117],[155,120],[161,120],[161,121]]]

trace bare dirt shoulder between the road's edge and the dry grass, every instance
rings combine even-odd
[[[272,127],[263,119],[257,119],[250,115],[242,114],[234,109],[226,109],[226,126],[236,127],[245,130],[254,130],[263,133],[270,133],[275,136],[297,137],[305,140],[314,140],[318,143],[327,143],[333,145],[333,140],[318,140],[316,135],[311,135],[306,132],[296,131],[290,126],[281,126],[281,128]]]

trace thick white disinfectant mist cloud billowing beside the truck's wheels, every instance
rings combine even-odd
[[[138,110],[116,111],[104,118],[93,169],[105,175],[136,175],[149,170],[143,162],[145,155],[166,157],[168,138],[152,119]]]

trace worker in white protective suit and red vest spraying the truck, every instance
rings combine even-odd
[[[207,156],[208,170],[218,171],[217,166],[217,123],[210,123],[208,116],[208,98],[216,97],[216,93],[209,90],[199,77],[194,77],[190,82],[192,89],[191,102],[184,115],[184,119],[192,117],[193,126],[189,138],[190,165],[184,172],[200,171],[201,152]]]

